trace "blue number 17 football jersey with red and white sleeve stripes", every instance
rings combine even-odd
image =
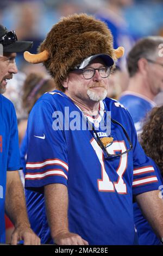
[[[99,138],[114,138],[107,146],[109,154],[124,153],[130,143],[122,127],[111,122],[110,134],[102,129],[108,111],[126,129],[133,149],[105,159],[97,135],[85,129],[83,120],[94,130],[99,126]],[[36,102],[27,128],[26,188],[37,192],[26,192],[27,207],[42,243],[53,242],[42,194],[43,186],[53,183],[67,186],[69,229],[90,245],[133,245],[133,196],[159,187],[152,162],[137,141],[133,121],[120,103],[106,98],[93,118],[57,90]]]

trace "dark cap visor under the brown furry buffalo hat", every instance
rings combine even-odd
[[[103,59],[106,66],[112,66],[114,64],[114,60],[108,54],[96,54],[85,58],[82,63],[75,67],[75,69],[84,69],[87,65],[89,65],[92,62],[93,59],[96,58]]]

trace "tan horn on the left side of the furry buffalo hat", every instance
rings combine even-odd
[[[43,52],[37,53],[37,54],[32,54],[30,52],[24,52],[24,59],[27,60],[27,62],[36,64],[36,63],[41,63],[45,62],[49,57],[49,53],[47,50],[44,50]]]

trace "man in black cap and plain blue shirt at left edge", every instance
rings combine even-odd
[[[21,168],[18,149],[17,120],[14,105],[2,94],[7,80],[17,73],[17,52],[26,51],[33,42],[18,41],[14,31],[0,25],[0,243],[5,243],[4,212],[14,224],[11,244],[23,240],[24,245],[39,245],[27,217],[23,188],[18,174]]]

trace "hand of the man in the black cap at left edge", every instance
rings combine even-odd
[[[17,245],[17,242],[23,240],[24,245],[40,245],[40,238],[36,236],[29,227],[17,227],[11,235],[11,245]]]

